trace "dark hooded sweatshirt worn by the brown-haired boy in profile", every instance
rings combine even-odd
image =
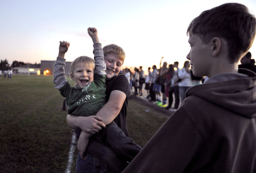
[[[190,88],[123,172],[255,172],[256,74],[238,72]]]

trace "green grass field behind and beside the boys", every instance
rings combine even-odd
[[[65,172],[72,129],[52,79],[42,75],[0,78],[0,172]],[[145,109],[129,101],[129,134],[141,146],[167,119]]]

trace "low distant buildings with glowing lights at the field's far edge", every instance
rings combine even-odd
[[[53,75],[53,66],[55,61],[44,61],[41,60],[41,64],[26,64],[19,67],[14,67],[12,70],[14,73],[21,74],[44,74],[44,75]],[[71,62],[66,61],[64,67],[65,75],[69,76],[71,73]]]

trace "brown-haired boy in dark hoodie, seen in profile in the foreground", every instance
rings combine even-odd
[[[124,173],[256,171],[256,74],[238,70],[255,26],[255,17],[237,3],[192,20],[187,58],[193,74],[209,80],[187,91]]]

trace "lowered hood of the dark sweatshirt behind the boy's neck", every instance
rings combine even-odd
[[[235,77],[239,73],[246,74],[247,77]],[[228,73],[228,76],[230,74],[234,75],[233,79],[209,81],[188,89],[186,97],[192,95],[200,97],[231,112],[248,118],[255,118],[256,73],[247,69],[238,69],[238,73]],[[218,77],[225,78],[225,76],[227,73],[220,74]]]

